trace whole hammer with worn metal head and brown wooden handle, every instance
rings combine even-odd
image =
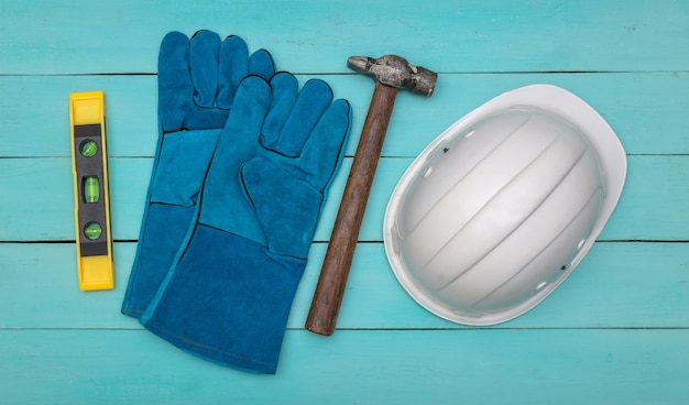
[[[378,59],[352,56],[347,65],[357,72],[373,76],[376,80],[306,319],[306,329],[326,336],[332,335],[335,330],[397,89],[403,88],[430,97],[438,78],[435,72],[411,65],[405,58],[396,55],[385,55]]]

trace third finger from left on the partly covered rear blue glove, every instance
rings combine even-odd
[[[220,46],[218,66],[218,107],[229,109],[239,83],[248,74],[249,50],[239,36],[228,36]]]

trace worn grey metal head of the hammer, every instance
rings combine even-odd
[[[430,97],[436,88],[438,74],[425,67],[414,66],[404,57],[385,55],[379,58],[351,56],[347,65],[360,73],[375,77],[386,86],[407,89]]]

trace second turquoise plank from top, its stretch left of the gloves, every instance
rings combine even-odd
[[[72,156],[69,94],[91,90],[105,91],[108,155],[152,156],[157,139],[155,76],[0,77],[0,92],[7,96],[0,100],[0,156]]]

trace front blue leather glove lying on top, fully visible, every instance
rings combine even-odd
[[[204,359],[274,373],[289,308],[351,109],[330,87],[286,73],[245,78],[200,197],[196,223],[139,319]]]

